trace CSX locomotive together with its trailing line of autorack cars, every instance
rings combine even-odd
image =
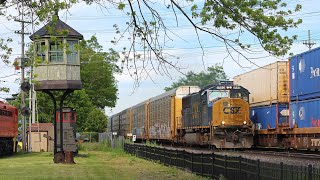
[[[232,82],[181,86],[109,118],[113,134],[137,140],[251,148],[249,92]]]

